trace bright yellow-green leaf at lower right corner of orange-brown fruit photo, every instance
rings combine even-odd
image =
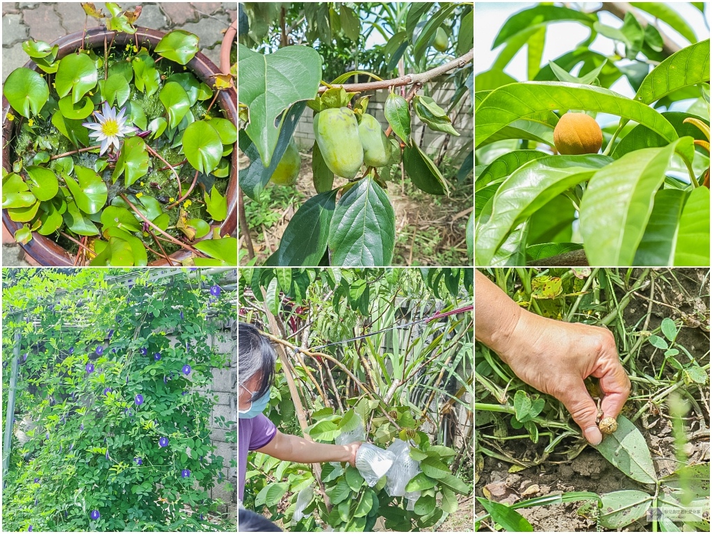
[[[710,264],[710,190],[697,187],[680,216],[674,264],[704,266]]]

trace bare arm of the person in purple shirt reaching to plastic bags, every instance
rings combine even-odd
[[[356,451],[360,446],[360,441],[347,445],[330,445],[308,441],[298,436],[277,431],[276,436],[261,449],[257,449],[257,451],[276,459],[294,461],[299,464],[347,461],[353,466],[356,462]]]

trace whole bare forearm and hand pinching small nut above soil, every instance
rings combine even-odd
[[[628,398],[630,380],[609,330],[530,313],[479,271],[475,337],[524,382],[559,399],[591,444],[600,444],[602,435],[596,425],[598,409],[584,379],[600,379],[603,417],[617,417]]]

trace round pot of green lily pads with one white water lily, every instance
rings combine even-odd
[[[54,41],[3,87],[3,220],[42,265],[235,265],[236,92],[140,9]]]

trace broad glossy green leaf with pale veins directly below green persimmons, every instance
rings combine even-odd
[[[338,266],[389,265],[394,246],[393,206],[374,179],[362,179],[336,205],[329,231],[331,262]]]

